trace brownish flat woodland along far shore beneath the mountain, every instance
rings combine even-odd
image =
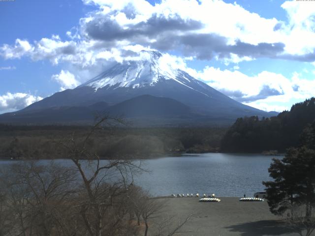
[[[89,126],[0,125],[0,158],[64,158],[60,145],[73,136],[83,142]],[[151,158],[184,152],[219,151],[225,128],[103,127],[95,131],[88,148],[101,158]]]

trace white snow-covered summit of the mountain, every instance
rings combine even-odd
[[[172,68],[158,51],[141,51],[138,60],[117,63],[80,87],[100,89],[106,86],[141,88],[155,86],[158,81],[174,80],[188,86],[189,78],[178,68]]]

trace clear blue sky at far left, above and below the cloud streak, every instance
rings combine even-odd
[[[17,38],[30,42],[52,34],[65,37],[65,32],[78,25],[80,18],[95,10],[81,0],[15,0],[0,1],[0,45],[12,44]],[[51,80],[62,65],[52,66],[47,60],[30,58],[6,60],[0,57],[0,94],[23,92],[46,97],[59,91],[59,84]]]

